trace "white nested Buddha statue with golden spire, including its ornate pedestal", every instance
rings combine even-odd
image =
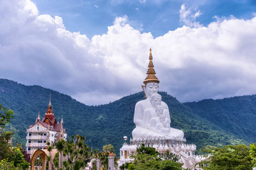
[[[171,128],[169,108],[161,101],[158,94],[159,79],[154,71],[154,64],[151,49],[149,53],[149,69],[144,80],[142,89],[145,93],[145,100],[137,102],[134,110],[134,123],[136,128],[132,131],[132,139],[127,144],[127,137],[124,136],[124,145],[120,149],[119,166],[126,162],[132,162],[129,155],[137,154],[137,148],[145,146],[154,147],[156,151],[163,154],[167,150],[180,159],[183,169],[194,169],[196,163],[201,162],[204,157],[195,154],[196,145],[186,144],[182,130]]]

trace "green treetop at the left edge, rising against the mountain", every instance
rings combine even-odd
[[[11,122],[11,119],[14,118],[14,112],[11,109],[6,109],[0,103],[0,126],[1,126],[1,135],[3,135],[3,130],[6,124]]]

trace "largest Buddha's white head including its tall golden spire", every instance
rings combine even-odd
[[[154,71],[154,64],[152,62],[153,57],[151,53],[151,48],[150,48],[150,53],[149,53],[149,69],[146,72],[148,74],[146,76],[146,79],[143,81],[144,86],[142,86],[142,89],[145,93],[145,97],[151,98],[152,94],[157,94],[158,89],[159,89],[159,79],[155,76],[156,72]]]

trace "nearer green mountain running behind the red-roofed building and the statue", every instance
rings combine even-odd
[[[114,145],[119,153],[122,147],[122,137],[132,137],[134,106],[144,99],[143,92],[126,96],[109,104],[86,106],[75,101],[68,95],[41,86],[25,86],[15,81],[0,79],[0,103],[5,108],[14,111],[11,125],[15,132],[14,142],[26,142],[26,129],[35,123],[38,112],[41,118],[46,113],[51,94],[53,113],[60,121],[64,120],[64,128],[71,135],[83,135],[92,149],[102,149],[103,145]],[[160,92],[162,100],[167,103],[171,115],[171,127],[185,132],[188,143],[196,144],[198,148],[204,145],[228,145],[247,143],[246,138],[238,137],[232,131],[223,129],[212,120],[194,113],[176,98]],[[228,115],[227,115],[228,116]]]

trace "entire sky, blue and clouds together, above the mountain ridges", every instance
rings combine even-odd
[[[149,47],[178,101],[256,94],[256,1],[0,1],[0,78],[87,105],[142,91]]]

